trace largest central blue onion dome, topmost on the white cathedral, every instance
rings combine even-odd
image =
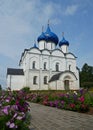
[[[47,30],[44,33],[44,35],[45,35],[45,41],[46,42],[50,41],[50,42],[54,42],[56,45],[58,44],[59,39],[58,39],[58,37],[57,37],[57,35],[55,33],[51,32],[49,24],[47,26]]]

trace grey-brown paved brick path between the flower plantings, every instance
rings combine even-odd
[[[30,130],[93,130],[93,115],[31,103]]]

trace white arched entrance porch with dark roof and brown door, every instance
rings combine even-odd
[[[71,71],[55,74],[49,81],[49,87],[56,90],[75,90],[77,77]]]

